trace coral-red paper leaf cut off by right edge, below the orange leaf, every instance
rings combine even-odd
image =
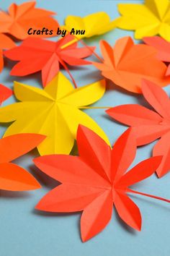
[[[164,156],[156,171],[161,177],[170,170],[170,100],[164,90],[153,82],[143,80],[142,91],[156,111],[128,104],[109,108],[106,112],[122,124],[133,127],[138,145],[146,145],[161,137],[153,148],[153,156]]]

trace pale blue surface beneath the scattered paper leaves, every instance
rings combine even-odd
[[[17,4],[24,1],[15,1]],[[117,2],[106,0],[89,1],[70,1],[70,0],[39,0],[37,7],[51,9],[58,13],[58,21],[68,14],[84,16],[86,14],[98,11],[107,12],[110,17],[115,18],[117,13]],[[130,1],[124,1],[130,2]],[[138,1],[131,1],[138,2]],[[7,9],[12,0],[1,0],[2,9]],[[98,45],[101,38],[114,43],[117,38],[133,33],[124,30],[113,30],[110,33],[88,40],[89,45]],[[54,38],[55,39],[55,38]],[[53,40],[54,40],[53,39]],[[0,82],[12,88],[12,81],[22,81],[29,85],[40,87],[40,74],[27,77],[10,77],[9,70],[13,64],[6,61],[6,67],[0,74]],[[79,86],[100,79],[99,72],[92,67],[83,67],[73,69],[73,77]],[[66,74],[67,75],[67,74]],[[170,88],[165,88],[170,94]],[[4,105],[14,102],[10,98]],[[107,93],[101,101],[95,106],[117,106],[122,103],[142,103],[142,96],[127,94],[125,91],[108,85]],[[119,135],[126,129],[125,126],[115,123],[109,119],[104,110],[86,111],[92,116],[98,124],[104,129],[113,143]],[[5,125],[1,126],[1,135],[3,135]],[[151,155],[151,149],[154,142],[146,147],[138,149],[135,163],[148,158]],[[133,196],[141,210],[143,216],[143,227],[141,232],[133,231],[120,221],[117,214],[113,213],[112,221],[100,233],[89,242],[82,243],[80,239],[79,220],[80,214],[44,214],[34,210],[34,206],[40,198],[55,186],[55,182],[47,176],[42,175],[40,171],[32,164],[32,158],[37,156],[37,150],[19,158],[17,163],[24,166],[42,184],[42,189],[35,192],[4,192],[0,195],[0,255],[1,256],[169,256],[169,234],[170,234],[170,212],[169,205],[166,202],[158,202],[147,197]],[[170,197],[169,174],[162,179],[157,179],[156,175],[151,176],[140,184],[135,186],[138,191],[151,193],[161,197]]]

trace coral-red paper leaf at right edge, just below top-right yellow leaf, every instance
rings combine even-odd
[[[147,43],[149,46],[153,46],[156,48],[156,50],[158,51],[158,59],[169,63],[166,75],[170,75],[170,43],[159,36],[143,38],[143,41]]]

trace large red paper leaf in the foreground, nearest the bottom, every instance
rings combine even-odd
[[[161,157],[142,161],[125,174],[136,153],[130,129],[115,142],[113,148],[83,126],[79,126],[76,140],[79,156],[45,155],[35,158],[35,165],[41,171],[62,183],[42,197],[36,209],[58,213],[83,210],[83,241],[91,239],[107,226],[113,206],[122,221],[140,231],[140,210],[126,193],[129,186],[153,174],[161,163]]]

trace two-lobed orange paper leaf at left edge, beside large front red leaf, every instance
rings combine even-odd
[[[24,191],[41,187],[29,172],[10,162],[37,147],[44,139],[45,136],[35,134],[11,135],[0,139],[0,189]]]

